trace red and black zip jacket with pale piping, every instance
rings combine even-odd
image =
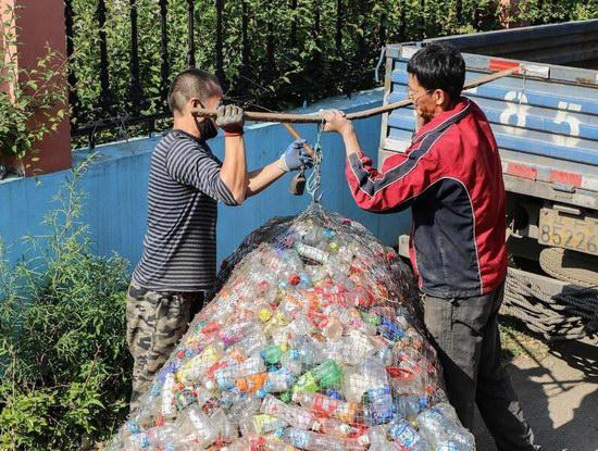
[[[423,292],[452,298],[488,293],[504,281],[504,186],[495,137],[479,108],[461,98],[378,172],[365,154],[346,168],[359,206],[411,206],[410,256]]]

